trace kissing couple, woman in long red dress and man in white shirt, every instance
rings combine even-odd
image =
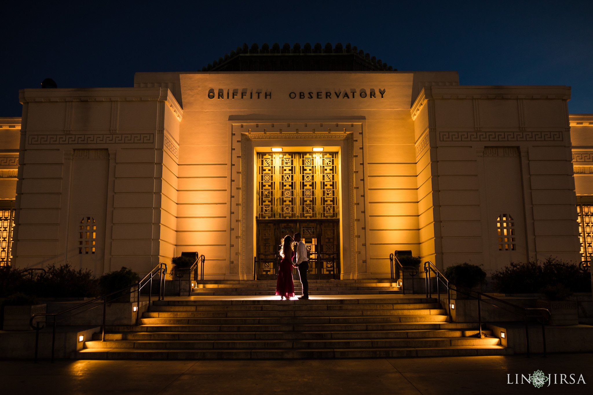
[[[301,277],[302,296],[299,299],[309,298],[309,282],[307,281],[307,270],[309,269],[309,259],[307,258],[307,246],[301,240],[301,233],[295,233],[295,251],[292,251],[292,237],[286,236],[280,246],[280,269],[278,271],[278,281],[276,281],[276,295],[280,300],[286,298],[289,300],[295,296],[295,285],[292,282],[292,268],[298,268],[298,274]],[[296,256],[295,256],[296,253]]]

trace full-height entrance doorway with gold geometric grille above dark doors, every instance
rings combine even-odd
[[[338,174],[337,152],[257,154],[256,278],[276,278],[280,242],[297,232],[310,278],[340,278]]]

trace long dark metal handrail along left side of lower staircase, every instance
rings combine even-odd
[[[111,301],[111,299],[109,299],[109,301],[108,301],[107,298],[110,297],[110,296],[114,296],[116,294],[117,294],[117,297],[118,298],[119,297],[122,297],[122,296],[129,295],[131,293],[136,292],[136,290],[133,289],[134,287],[138,287],[138,290],[137,290],[138,291],[138,298],[136,300],[136,325],[138,325],[138,320],[139,320],[139,316],[140,316],[140,290],[144,287],[144,285],[150,284],[150,288],[149,288],[149,291],[148,291],[148,309],[150,309],[150,302],[151,302],[151,295],[152,295],[152,278],[155,277],[157,274],[160,276],[160,279],[159,279],[159,284],[160,284],[160,287],[159,288],[160,289],[159,289],[159,292],[158,292],[158,300],[165,300],[165,284],[164,284],[164,282],[165,282],[165,274],[167,274],[167,264],[160,263],[157,266],[155,266],[151,271],[149,271],[148,274],[146,274],[144,276],[144,278],[142,278],[142,280],[136,282],[135,284],[130,285],[129,287],[125,287],[125,288],[122,288],[121,290],[114,291],[114,292],[112,292],[110,294],[103,295],[103,296],[94,298],[92,300],[85,301],[84,303],[78,304],[78,305],[76,305],[74,307],[71,307],[70,309],[66,309],[66,310],[60,311],[59,313],[36,313],[36,314],[33,314],[31,316],[31,318],[29,319],[29,325],[33,329],[36,330],[36,333],[35,333],[35,359],[34,359],[34,362],[37,363],[37,351],[39,349],[39,330],[40,329],[43,329],[45,327],[45,325],[42,326],[42,327],[40,327],[39,326],[39,322],[37,322],[37,325],[36,326],[33,326],[33,320],[35,319],[35,317],[37,317],[37,316],[46,316],[46,317],[47,316],[52,316],[53,317],[53,321],[52,321],[52,323],[53,323],[53,334],[52,334],[52,363],[53,363],[53,360],[54,360],[54,352],[55,352],[55,344],[56,344],[56,323],[58,322],[58,320],[56,319],[56,317],[58,317],[58,316],[60,316],[60,315],[62,315],[64,313],[68,313],[69,311],[73,311],[73,310],[79,309],[82,306],[87,306],[87,304],[95,303],[96,301],[99,301],[99,300],[103,299],[103,303],[101,303],[103,305],[103,325],[101,326],[101,341],[103,342],[103,341],[105,341],[105,317],[106,317],[106,310],[107,310],[106,306],[107,306],[107,303],[109,303],[109,301]],[[142,281],[145,281],[144,284],[142,284]],[[126,290],[130,290],[130,291],[128,293],[122,294],[122,292],[123,291],[126,291]],[[69,318],[69,317],[75,316],[76,314],[84,313],[84,311],[93,310],[93,309],[95,309],[95,307],[101,306],[101,304],[97,304],[96,306],[89,307],[88,309],[78,311],[78,312],[76,312],[74,314],[69,315],[68,317],[64,317],[60,321],[63,321],[65,319]]]

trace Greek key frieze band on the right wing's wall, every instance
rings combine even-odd
[[[561,142],[562,131],[441,131],[442,142]]]

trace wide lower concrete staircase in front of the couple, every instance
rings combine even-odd
[[[435,298],[155,301],[139,326],[107,327],[76,359],[295,359],[505,355]]]

